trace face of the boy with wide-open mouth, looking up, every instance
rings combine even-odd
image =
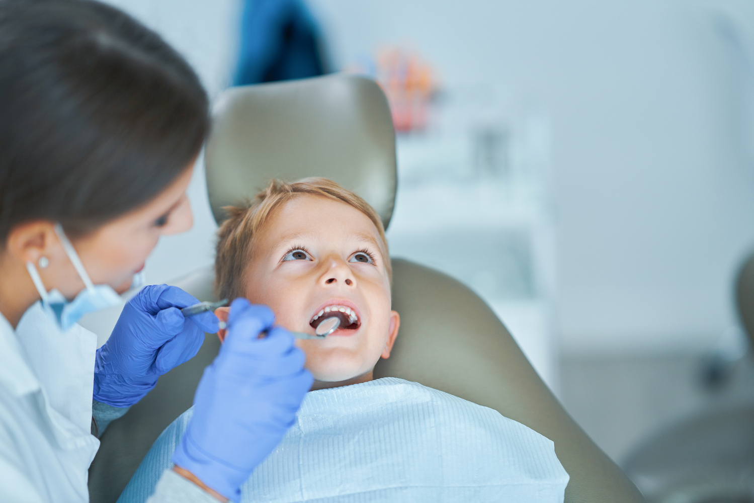
[[[299,340],[314,388],[372,379],[390,356],[400,320],[391,311],[385,250],[375,225],[348,204],[299,195],[277,208],[253,240],[245,290],[269,305],[277,324],[314,334],[330,316],[339,330]]]

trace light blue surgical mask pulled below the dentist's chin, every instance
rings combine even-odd
[[[32,277],[39,296],[42,298],[44,311],[60,327],[60,330],[68,330],[84,314],[118,305],[121,302],[121,296],[115,293],[115,290],[109,285],[92,284],[86,269],[84,269],[84,264],[81,263],[78,253],[76,253],[71,242],[68,241],[66,233],[63,232],[63,227],[59,223],[55,224],[55,234],[60,239],[60,243],[63,244],[63,250],[66,250],[66,255],[76,269],[76,272],[78,272],[81,280],[84,281],[84,290],[81,290],[75,299],[69,301],[57,289],[48,292],[44,288],[44,283],[42,283],[37,268],[35,268],[32,262],[26,262],[26,269]]]

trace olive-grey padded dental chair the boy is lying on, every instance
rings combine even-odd
[[[354,190],[388,226],[396,191],[395,135],[385,95],[367,78],[327,75],[234,87],[216,103],[205,151],[207,190],[217,222],[222,207],[253,198],[269,179],[326,176]],[[213,269],[174,282],[200,300],[216,299]],[[475,293],[430,268],[393,259],[393,308],[401,326],[375,378],[393,376],[498,410],[553,440],[570,475],[566,502],[644,501],[541,381],[498,317]],[[448,313],[464,313],[461,317]],[[192,405],[202,370],[219,342],[162,376],[102,437],[90,469],[93,503],[112,503],[149,447]]]

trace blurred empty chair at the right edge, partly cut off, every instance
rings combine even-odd
[[[738,271],[736,300],[754,348],[754,254]],[[750,367],[751,357],[737,363]],[[719,405],[651,435],[624,462],[651,503],[754,503],[754,398]]]

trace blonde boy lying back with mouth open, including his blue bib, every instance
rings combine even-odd
[[[242,501],[562,501],[553,443],[492,409],[403,379],[372,380],[400,327],[379,216],[327,179],[273,182],[219,229],[216,290],[266,304],[302,339],[314,386]],[[216,314],[227,319],[228,308]],[[219,334],[222,340],[225,334]],[[241,399],[241,398],[240,398]],[[152,446],[118,501],[145,501],[192,415]]]

